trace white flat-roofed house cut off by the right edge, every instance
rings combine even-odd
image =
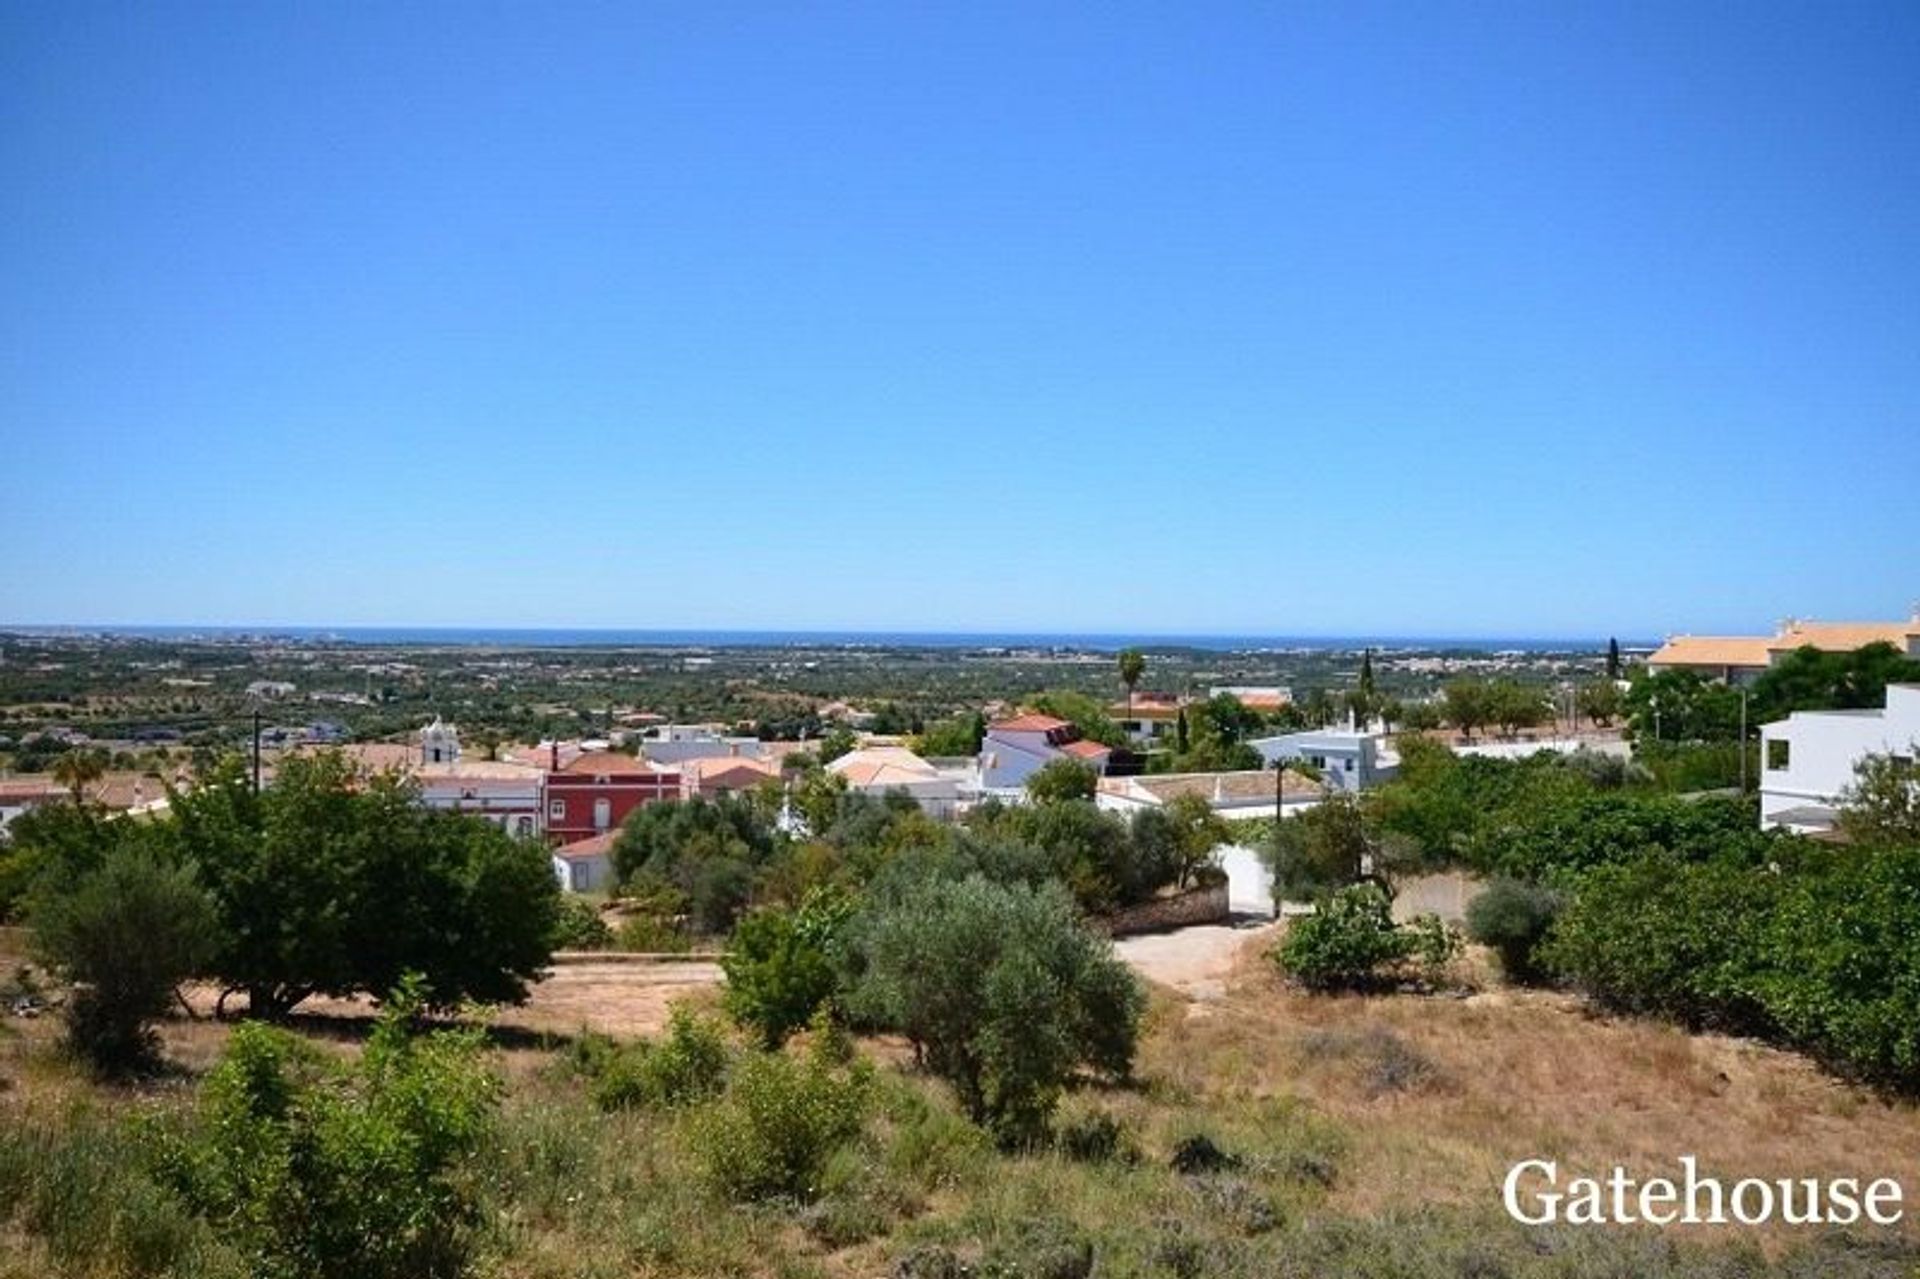
[[[1834,828],[1853,768],[1868,755],[1908,766],[1920,751],[1920,684],[1889,684],[1880,711],[1795,711],[1761,728],[1761,826]]]

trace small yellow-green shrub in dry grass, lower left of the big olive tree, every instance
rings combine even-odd
[[[749,1052],[693,1116],[689,1143],[728,1198],[812,1200],[828,1160],[866,1125],[872,1091],[866,1062],[841,1070],[824,1052]]]

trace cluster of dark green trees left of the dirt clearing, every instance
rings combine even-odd
[[[75,1045],[104,1068],[144,1064],[186,977],[265,1018],[409,974],[432,1006],[518,1002],[563,920],[545,847],[334,755],[284,760],[265,791],[227,764],[152,820],[35,808],[0,885],[73,981]]]

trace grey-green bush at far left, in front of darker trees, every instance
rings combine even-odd
[[[104,1072],[152,1062],[152,1024],[213,953],[213,903],[194,868],[156,857],[138,826],[117,828],[100,866],[42,876],[29,916],[42,962],[73,983],[69,1041]]]

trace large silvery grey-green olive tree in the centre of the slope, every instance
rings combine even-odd
[[[931,880],[860,922],[854,1008],[906,1035],[1008,1145],[1044,1135],[1079,1068],[1123,1077],[1144,995],[1058,883]]]

